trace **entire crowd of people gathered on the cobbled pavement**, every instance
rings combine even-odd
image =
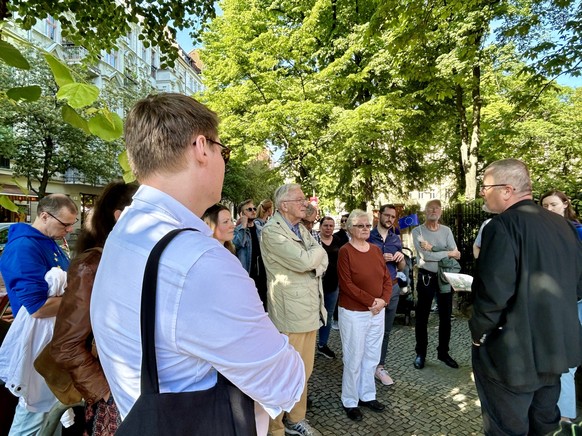
[[[80,428],[63,434],[135,434],[126,419],[144,419],[146,428],[172,422],[190,434],[199,434],[202,422],[220,435],[318,434],[306,419],[307,386],[316,354],[335,359],[339,352],[328,346],[334,323],[343,362],[338,407],[353,421],[364,420],[363,408],[383,412],[376,380],[394,384],[387,356],[400,297],[397,274],[406,267],[396,206],[382,205],[375,227],[365,211],[343,214],[335,231],[336,220],[318,217],[301,186],[291,183],[258,207],[252,199],[241,202],[235,223],[219,203],[230,149],[220,143],[218,118],[179,94],[138,102],[125,140],[140,186],[105,188],[72,261],[56,243],[77,221],[68,197],[46,196],[32,226],[10,230],[0,271],[15,323],[25,311],[32,323],[48,319],[52,333],[41,339],[31,328],[23,338],[32,351],[20,376],[38,371],[44,381],[36,385],[54,394],[52,403],[41,402],[37,390],[20,392],[26,383],[14,384],[0,371],[19,396],[10,434],[37,434],[57,399],[68,406],[81,398]],[[576,417],[582,225],[560,191],[536,204],[527,167],[516,159],[488,166],[480,194],[496,214],[475,245],[469,321],[485,434],[547,434],[560,417]],[[461,252],[441,223],[441,202],[430,200],[424,212],[424,223],[412,230],[418,276],[411,364],[425,367],[436,299],[436,357],[456,369],[449,353],[453,292],[443,273],[459,270]],[[153,262],[152,303],[142,299],[142,286],[151,252],[169,233],[176,236]],[[68,271],[62,297],[50,296],[47,274],[55,268]],[[155,400],[158,412],[144,414],[146,309],[155,313],[148,347],[155,345],[157,371],[146,376],[160,393],[200,393],[188,416],[176,416],[162,397]],[[3,345],[0,362],[12,351]],[[217,388],[223,383],[228,389]],[[235,407],[239,398],[252,407]]]

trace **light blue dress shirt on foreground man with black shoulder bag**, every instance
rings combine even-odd
[[[254,282],[212,231],[167,194],[141,186],[109,235],[91,297],[91,324],[122,417],[140,394],[140,301],[155,243],[180,233],[160,259],[155,342],[161,392],[208,389],[220,371],[271,417],[299,400],[299,354],[269,320]]]

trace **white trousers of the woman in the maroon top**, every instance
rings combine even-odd
[[[380,360],[384,337],[384,310],[378,315],[338,309],[342,340],[344,372],[342,377],[342,404],[357,407],[358,400],[376,399],[374,372]]]

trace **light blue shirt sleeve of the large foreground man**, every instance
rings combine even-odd
[[[291,410],[305,386],[303,361],[265,313],[237,258],[209,250],[186,283],[176,319],[180,352],[209,362],[271,417]]]

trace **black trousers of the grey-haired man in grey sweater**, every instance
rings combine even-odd
[[[453,310],[453,293],[439,292],[437,274],[423,269],[418,270],[416,284],[418,299],[416,301],[416,354],[426,356],[428,346],[428,317],[432,300],[436,294],[439,308],[439,345],[438,355],[446,356],[449,353],[451,341],[451,314]]]

